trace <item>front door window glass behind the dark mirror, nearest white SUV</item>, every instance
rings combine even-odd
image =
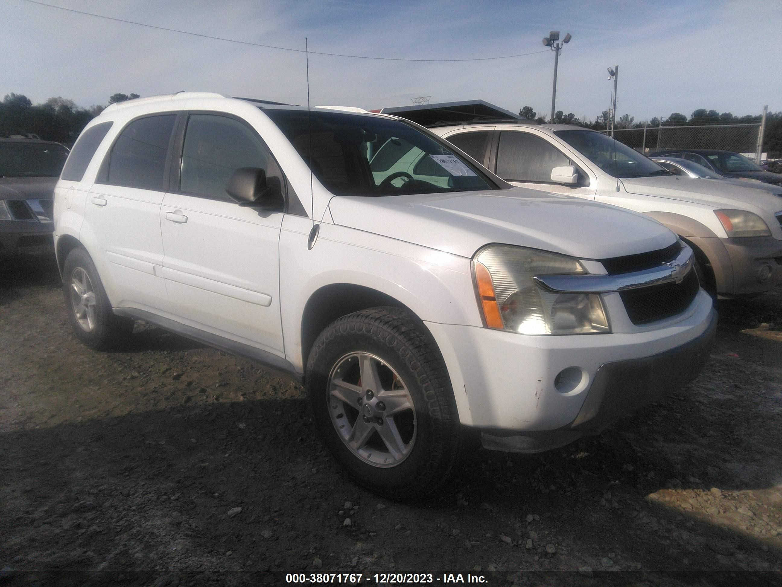
[[[246,124],[224,116],[191,114],[179,188],[184,193],[228,200],[225,186],[234,171],[260,167],[268,174],[270,159],[260,137]]]

